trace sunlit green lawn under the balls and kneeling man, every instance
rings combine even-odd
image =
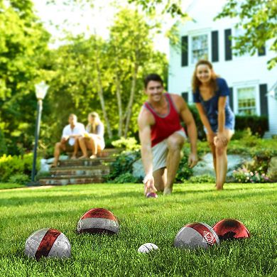
[[[175,185],[173,195],[146,199],[142,185],[72,185],[0,193],[0,276],[276,276],[277,184]],[[112,210],[121,223],[114,236],[78,235],[78,219],[92,207]],[[189,222],[213,225],[232,217],[251,238],[210,249],[175,249]],[[72,246],[71,259],[28,259],[23,251],[36,229],[53,227]],[[155,255],[139,254],[146,242]]]

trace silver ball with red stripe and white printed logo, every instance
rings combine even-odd
[[[205,223],[191,223],[185,225],[175,237],[174,246],[195,249],[208,248],[219,244],[219,237],[214,229]]]

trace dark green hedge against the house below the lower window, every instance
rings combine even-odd
[[[262,138],[264,133],[268,131],[267,116],[236,116],[236,131],[242,131],[249,128],[251,134],[255,134]]]

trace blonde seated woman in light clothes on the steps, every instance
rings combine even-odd
[[[105,147],[104,142],[104,125],[99,119],[97,112],[91,112],[87,120],[89,123],[86,127],[84,136],[79,138],[79,145],[82,150],[82,158],[88,158],[87,150],[92,151],[92,156],[89,158],[97,158],[97,153],[102,151]]]

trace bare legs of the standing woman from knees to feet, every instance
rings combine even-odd
[[[224,136],[227,138],[227,144],[224,145],[222,141],[218,141],[217,137],[214,139],[215,153],[216,153],[216,173],[217,173],[217,190],[222,190],[227,174],[227,145],[232,138],[234,132],[229,129],[224,129]]]

